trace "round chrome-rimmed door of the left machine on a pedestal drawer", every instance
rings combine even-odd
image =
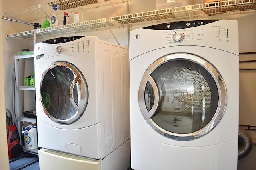
[[[79,119],[88,103],[88,87],[82,73],[67,62],[46,68],[40,84],[40,100],[48,117],[60,124]]]

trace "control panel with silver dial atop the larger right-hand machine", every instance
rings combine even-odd
[[[236,20],[196,20],[152,25],[130,32],[130,47],[147,44],[141,51],[178,45],[195,45],[222,49],[238,54]],[[152,41],[151,43],[148,43]],[[142,52],[143,53],[143,52]]]

